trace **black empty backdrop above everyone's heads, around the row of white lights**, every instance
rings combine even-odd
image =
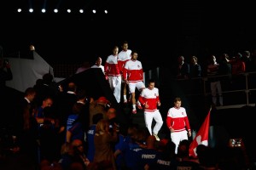
[[[19,6],[35,8],[33,14],[17,14]],[[177,55],[196,55],[202,63],[207,54],[227,52],[232,56],[253,50],[256,44],[253,4],[234,1],[124,1],[58,0],[46,8],[86,8],[84,14],[41,14],[43,0],[1,1],[1,38],[5,57],[17,55],[33,44],[49,64],[94,62],[103,64],[113,45],[124,40],[139,52],[145,70],[172,65]],[[99,14],[91,14],[97,7]],[[102,14],[108,8],[108,14]],[[166,62],[167,60],[167,62]],[[171,60],[171,62],[169,62]]]

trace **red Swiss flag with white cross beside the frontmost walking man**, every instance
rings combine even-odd
[[[193,139],[192,143],[189,145],[189,156],[197,157],[195,151],[198,144],[204,144],[208,145],[208,134],[209,134],[209,126],[210,126],[210,113],[208,112],[208,115],[201,125],[198,133],[195,135],[195,139]]]

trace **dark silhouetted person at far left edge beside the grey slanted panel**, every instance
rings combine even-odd
[[[7,59],[0,58],[0,89],[3,90],[5,82],[13,79],[13,73]]]

